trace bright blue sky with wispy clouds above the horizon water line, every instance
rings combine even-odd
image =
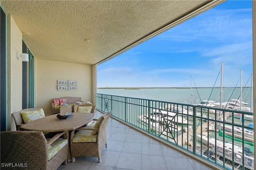
[[[97,87],[235,87],[252,73],[252,1],[228,0],[97,66]],[[217,78],[218,77],[218,78]],[[250,81],[246,86],[250,86]]]

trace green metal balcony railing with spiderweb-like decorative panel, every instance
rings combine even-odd
[[[254,169],[253,113],[99,93],[96,106],[222,168]]]

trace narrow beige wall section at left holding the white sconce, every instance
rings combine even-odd
[[[17,53],[22,53],[22,33],[12,16],[8,15],[7,25],[7,69],[8,69],[8,130],[15,130],[11,113],[22,109],[22,60]],[[12,123],[11,123],[12,122]]]

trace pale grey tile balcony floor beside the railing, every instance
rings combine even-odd
[[[98,158],[80,156],[58,170],[212,170],[112,118],[108,122],[107,140],[100,163]]]

